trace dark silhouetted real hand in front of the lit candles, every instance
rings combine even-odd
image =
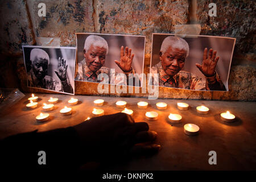
[[[134,122],[125,113],[116,113],[91,118],[74,126],[79,134],[84,160],[117,159],[118,156],[133,154],[152,154],[159,151],[156,144],[138,143],[150,142],[156,138],[155,131],[148,131],[146,122]]]

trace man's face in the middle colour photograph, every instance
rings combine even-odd
[[[106,49],[92,45],[87,52],[84,50],[84,57],[90,71],[97,72],[105,63]]]

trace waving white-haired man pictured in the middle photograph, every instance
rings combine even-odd
[[[131,49],[121,47],[120,61],[114,60],[115,64],[125,73],[126,80],[123,76],[118,76],[110,68],[104,67],[106,55],[108,55],[109,46],[104,38],[98,35],[89,35],[84,43],[84,59],[80,61],[77,67],[76,80],[102,82],[98,80],[98,75],[105,73],[109,77],[110,84],[127,85],[130,75],[134,75],[135,71],[131,67],[134,54]],[[131,73],[129,75],[129,73]],[[110,77],[115,79],[110,79]]]

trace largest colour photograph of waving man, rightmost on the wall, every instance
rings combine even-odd
[[[228,91],[235,38],[152,34],[150,73],[159,85],[189,90]]]

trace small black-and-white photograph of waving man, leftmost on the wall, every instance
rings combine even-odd
[[[52,51],[55,52],[54,48],[49,49],[52,49]],[[74,89],[67,76],[67,60],[65,60],[63,57],[56,57],[57,69],[54,70],[54,74],[56,75],[55,77],[50,76],[50,58],[46,51],[46,48],[33,47],[31,49],[31,47],[23,47],[25,60],[24,62],[27,69],[27,86],[32,88],[42,88],[47,90],[54,90],[56,92],[73,94]],[[73,64],[75,64],[75,49],[73,49],[73,54]],[[30,55],[29,60],[28,55]]]

